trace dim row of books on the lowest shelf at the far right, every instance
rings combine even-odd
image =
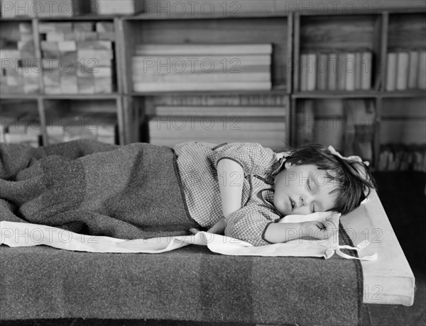
[[[382,145],[378,171],[426,172],[426,145]]]

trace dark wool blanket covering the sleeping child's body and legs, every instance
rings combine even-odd
[[[146,143],[0,143],[1,220],[120,239],[188,235],[175,153]]]

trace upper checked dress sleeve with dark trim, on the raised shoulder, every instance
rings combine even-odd
[[[256,174],[274,162],[275,153],[256,142],[234,142],[216,150],[215,166],[221,159],[231,159],[243,167],[246,174]]]

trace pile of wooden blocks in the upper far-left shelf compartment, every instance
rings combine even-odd
[[[40,91],[40,67],[35,60],[31,23],[19,23],[19,40],[0,49],[0,91],[4,94]]]

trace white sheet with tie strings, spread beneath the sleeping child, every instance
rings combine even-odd
[[[281,223],[303,222],[309,220],[325,220],[339,218],[338,213],[313,213],[310,215],[289,215]],[[295,230],[296,232],[296,230]],[[337,252],[342,257],[349,257],[340,252],[338,232],[327,240],[292,240],[285,243],[254,247],[253,245],[222,235],[208,232],[198,232],[197,235],[179,237],[157,237],[152,239],[121,240],[113,237],[80,235],[75,232],[31,223],[0,222],[1,244],[9,247],[28,247],[47,245],[65,250],[82,252],[113,252],[113,253],[151,253],[159,254],[187,245],[204,245],[212,252],[239,256],[295,256],[295,257],[324,257],[328,259]],[[361,250],[368,245],[361,242],[356,248]],[[363,257],[367,260],[377,259],[377,255]]]

